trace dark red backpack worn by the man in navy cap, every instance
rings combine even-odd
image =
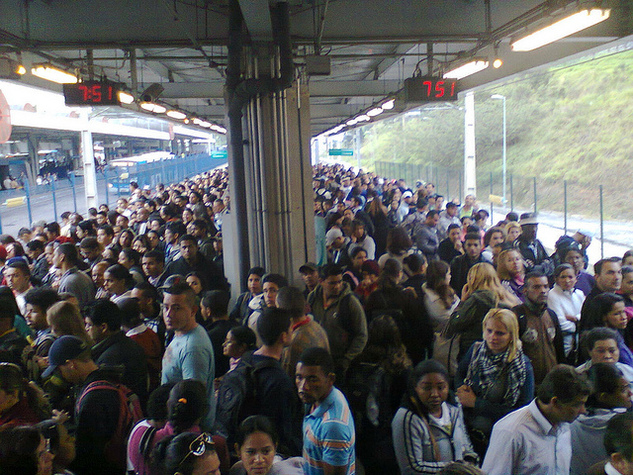
[[[79,413],[81,405],[87,394],[97,390],[116,391],[119,396],[119,420],[112,437],[105,447],[105,457],[116,466],[125,467],[127,461],[127,438],[132,428],[143,418],[143,410],[138,396],[123,384],[106,380],[90,383],[77,400],[76,412]]]

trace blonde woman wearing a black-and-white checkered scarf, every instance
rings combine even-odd
[[[484,341],[470,347],[455,378],[471,440],[481,455],[494,423],[534,397],[534,372],[521,349],[514,312],[493,308],[482,326]]]

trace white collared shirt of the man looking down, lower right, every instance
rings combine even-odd
[[[571,464],[571,432],[545,418],[536,399],[492,429],[482,470],[488,475],[561,475]]]

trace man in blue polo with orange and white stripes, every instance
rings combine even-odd
[[[334,387],[334,362],[324,348],[299,358],[295,382],[306,405],[303,419],[305,475],[354,475],[354,419],[343,393]]]

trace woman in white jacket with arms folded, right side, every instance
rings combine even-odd
[[[554,270],[554,288],[550,290],[547,306],[558,316],[560,329],[563,332],[565,356],[569,356],[576,341],[576,324],[580,320],[580,311],[585,301],[582,290],[575,289],[576,272],[569,264],[561,264]]]

